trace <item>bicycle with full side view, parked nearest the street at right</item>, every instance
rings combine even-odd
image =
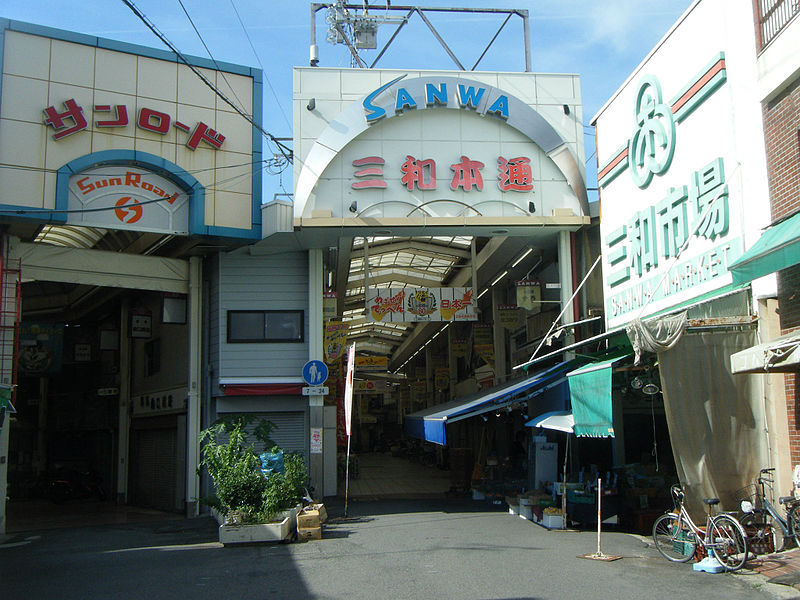
[[[721,513],[712,516],[719,498],[706,498],[708,505],[705,528],[698,527],[684,505],[683,488],[670,489],[675,510],[658,517],[653,524],[653,541],[661,555],[672,562],[689,562],[700,545],[707,556],[716,556],[727,571],[737,571],[747,560],[747,536],[736,517]]]

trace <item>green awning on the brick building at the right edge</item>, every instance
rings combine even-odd
[[[800,213],[767,229],[753,247],[728,265],[733,283],[747,283],[800,263]]]

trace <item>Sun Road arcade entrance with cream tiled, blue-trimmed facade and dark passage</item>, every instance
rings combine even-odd
[[[7,481],[21,499],[63,469],[196,514],[203,256],[260,238],[261,73],[0,29],[0,531]]]

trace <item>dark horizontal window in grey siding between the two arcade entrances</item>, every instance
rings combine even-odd
[[[228,343],[302,341],[302,310],[228,311]]]

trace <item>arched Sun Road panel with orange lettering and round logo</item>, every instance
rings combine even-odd
[[[189,231],[187,194],[168,179],[138,167],[105,166],[72,175],[68,208],[72,224],[172,234]]]

